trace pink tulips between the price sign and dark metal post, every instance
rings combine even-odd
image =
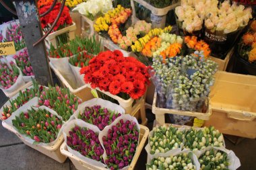
[[[22,70],[24,76],[33,76],[33,69],[30,63],[30,58],[28,56],[28,49],[24,48],[23,51],[20,51],[19,54],[13,56],[16,64]]]

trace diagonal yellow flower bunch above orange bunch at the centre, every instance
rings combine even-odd
[[[171,30],[171,26],[168,26],[164,29],[154,28],[153,30],[150,30],[150,32],[148,32],[146,36],[139,38],[139,40],[137,40],[134,45],[131,46],[131,50],[133,50],[133,52],[141,52],[141,50],[143,50],[143,46],[145,46],[145,44],[149,42],[152,38],[154,38],[155,36],[160,36],[162,33],[169,33]]]

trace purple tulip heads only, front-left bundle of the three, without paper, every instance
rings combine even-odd
[[[67,146],[85,157],[104,163],[104,150],[98,139],[98,133],[88,128],[75,126],[67,136]]]

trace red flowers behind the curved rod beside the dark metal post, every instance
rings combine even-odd
[[[51,7],[51,4],[41,7],[39,9],[39,14],[42,14],[48,11],[50,7]],[[55,22],[55,19],[57,18],[57,15],[60,9],[61,9],[61,3],[56,3],[55,7],[50,13],[40,18],[41,26],[44,32],[47,32],[47,30],[51,28],[51,25],[53,24],[53,22]],[[53,30],[54,31],[61,30],[62,28],[65,28],[66,26],[69,26],[71,24],[72,24],[72,19],[69,14],[69,8],[65,6],[63,9],[63,12],[61,13],[61,17],[59,18],[59,21],[57,22]]]

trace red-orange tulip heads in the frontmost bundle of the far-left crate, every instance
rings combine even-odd
[[[36,142],[44,143],[53,142],[63,124],[57,116],[40,108],[38,110],[31,108],[28,112],[22,112],[12,120],[12,123],[21,134],[30,136]]]

